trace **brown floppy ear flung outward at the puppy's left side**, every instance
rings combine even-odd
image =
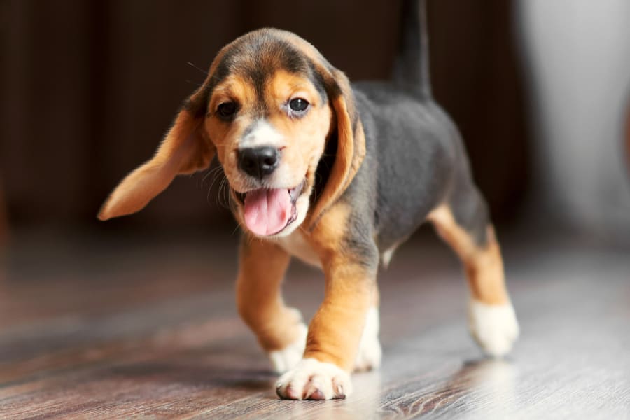
[[[186,101],[153,159],[123,179],[99,211],[98,218],[125,216],[143,209],[175,176],[206,169],[216,149],[204,135],[203,88]]]

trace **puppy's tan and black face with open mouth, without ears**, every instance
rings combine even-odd
[[[204,128],[237,219],[258,236],[288,235],[307,216],[332,127],[323,78],[294,45],[267,36],[229,45],[214,73]]]

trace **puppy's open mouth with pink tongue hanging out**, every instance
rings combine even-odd
[[[236,193],[243,204],[247,228],[255,235],[269,236],[282,232],[297,219],[295,202],[302,195],[305,180],[293,188],[258,188]]]

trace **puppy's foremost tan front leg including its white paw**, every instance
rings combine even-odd
[[[309,325],[304,359],[276,384],[281,398],[329,400],[351,393],[349,372],[374,303],[376,267],[377,260],[348,249],[325,258],[325,297]]]

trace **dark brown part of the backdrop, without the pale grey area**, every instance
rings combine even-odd
[[[510,1],[429,3],[435,96],[454,117],[496,218],[527,186]],[[0,2],[0,179],[15,225],[96,227],[111,188],[153,153],[222,45],[274,26],[314,43],[351,80],[385,78],[400,1]],[[211,176],[182,177],[120,226],[226,225]],[[228,222],[227,225],[230,225]]]

